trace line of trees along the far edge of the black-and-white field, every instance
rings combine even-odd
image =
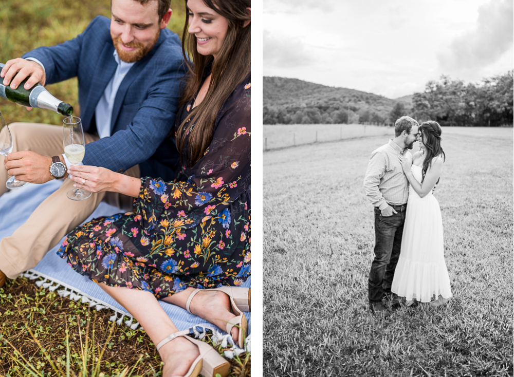
[[[399,117],[409,115],[420,122],[435,120],[443,126],[512,126],[513,71],[466,84],[442,76],[429,81],[425,90],[408,101],[390,102],[366,96],[334,98],[303,106],[266,104],[264,124],[376,124],[392,125]],[[371,100],[371,101],[370,101]],[[350,102],[351,101],[351,102]]]

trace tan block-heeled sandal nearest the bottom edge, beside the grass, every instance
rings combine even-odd
[[[183,377],[197,377],[200,373],[205,377],[215,377],[216,374],[219,374],[222,377],[226,377],[230,372],[230,363],[227,362],[210,345],[188,335],[189,329],[168,335],[168,337],[164,338],[156,346],[157,351],[159,351],[159,349],[166,343],[171,342],[176,337],[182,336],[183,338],[193,343],[196,347],[198,347],[198,350],[200,351],[200,355],[196,357],[186,375]]]

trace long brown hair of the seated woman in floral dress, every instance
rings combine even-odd
[[[251,7],[251,0],[203,1],[209,8],[227,19],[228,30],[221,49],[214,60],[212,55],[204,56],[198,53],[196,49],[196,36],[189,34],[189,15],[186,16],[186,24],[182,32],[182,54],[188,66],[188,77],[180,105],[185,105],[196,96],[203,81],[206,67],[212,64],[211,82],[207,94],[203,101],[191,110],[187,117],[191,119],[190,126],[188,127],[190,130],[187,156],[189,167],[194,166],[204,155],[205,150],[212,141],[214,123],[219,110],[232,91],[248,76],[251,70],[250,24],[244,27],[245,21],[250,20],[250,15],[247,14],[246,8]],[[188,53],[193,63],[189,60]],[[184,129],[186,122],[187,119],[176,129],[177,148],[181,159],[185,147],[185,138],[188,134],[188,129]],[[191,129],[191,125],[195,126]]]

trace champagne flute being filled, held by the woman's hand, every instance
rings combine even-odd
[[[78,165],[86,152],[82,122],[79,117],[68,117],[64,118],[63,123],[64,153],[72,165]],[[66,196],[71,200],[83,200],[89,198],[91,193],[81,189],[71,189]]]

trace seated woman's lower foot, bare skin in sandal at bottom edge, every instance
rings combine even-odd
[[[198,347],[183,337],[177,337],[159,349],[162,377],[186,376],[189,368],[200,355]]]

